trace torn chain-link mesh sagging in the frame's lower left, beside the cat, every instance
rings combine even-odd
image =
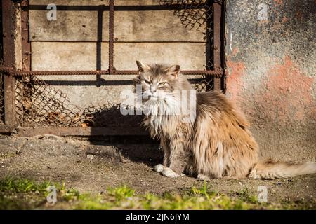
[[[16,82],[17,118],[22,127],[139,125],[141,116],[123,116],[121,106],[124,105],[104,104],[81,109],[72,104],[66,94],[55,90],[40,78],[27,76]]]

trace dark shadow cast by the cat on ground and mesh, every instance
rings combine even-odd
[[[159,142],[152,140],[140,125],[143,116],[124,116],[120,105],[107,104],[103,109],[91,111],[86,117],[85,124],[91,127],[91,135],[88,137],[91,145],[107,146],[105,151],[102,147],[97,147],[98,156],[108,158],[114,153],[114,157],[120,162],[141,162],[149,166],[162,161]],[[108,147],[113,148],[109,151]]]

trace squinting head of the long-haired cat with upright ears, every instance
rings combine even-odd
[[[179,90],[190,90],[190,84],[180,74],[180,66],[166,64],[145,64],[136,61],[139,75],[135,86],[141,85],[143,97],[159,99]]]

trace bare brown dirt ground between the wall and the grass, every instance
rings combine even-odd
[[[7,176],[35,181],[65,181],[80,192],[101,193],[107,187],[129,185],[136,193],[181,193],[201,186],[192,177],[170,179],[152,170],[161,159],[158,144],[138,139],[88,140],[51,135],[0,136],[0,179]],[[258,186],[268,189],[268,202],[316,201],[316,175],[292,179],[212,179],[212,190],[237,195],[246,188],[258,195]]]

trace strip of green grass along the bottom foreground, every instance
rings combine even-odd
[[[46,201],[48,186],[55,186],[55,204]],[[79,193],[65,183],[28,179],[0,180],[0,209],[315,209],[315,204],[284,202],[261,204],[244,188],[234,197],[216,193],[206,182],[180,194],[136,194],[129,186],[107,188],[103,194]]]

